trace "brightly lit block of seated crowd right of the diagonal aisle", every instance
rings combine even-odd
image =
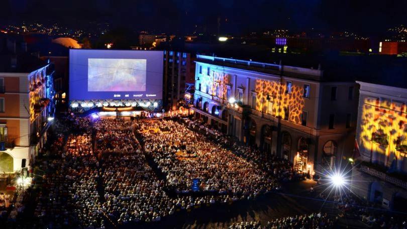
[[[140,130],[157,126],[167,131],[143,131],[141,134],[147,155],[166,174],[167,185],[171,189],[187,193],[194,178],[199,179],[200,190],[229,194],[234,198],[251,198],[279,187],[273,177],[258,169],[254,163],[207,141],[179,123],[146,122],[140,126]],[[180,158],[180,152],[194,157]]]

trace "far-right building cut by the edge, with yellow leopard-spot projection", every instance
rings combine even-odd
[[[407,89],[360,82],[352,191],[393,210],[407,206]],[[363,182],[360,182],[363,180]]]

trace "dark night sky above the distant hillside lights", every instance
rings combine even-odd
[[[114,27],[156,32],[242,33],[315,28],[359,33],[383,32],[407,24],[407,0],[0,0],[0,23],[59,22],[80,27],[109,22]]]

